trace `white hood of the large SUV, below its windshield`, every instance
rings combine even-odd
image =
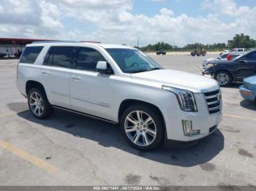
[[[217,81],[214,79],[170,69],[140,72],[131,74],[131,76],[132,79],[156,82],[160,85],[187,89],[194,93],[199,93],[203,89],[219,86]]]

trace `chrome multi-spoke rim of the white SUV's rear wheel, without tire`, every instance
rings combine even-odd
[[[30,94],[29,106],[30,106],[31,112],[33,112],[37,116],[42,115],[42,113],[45,111],[45,106],[42,101],[42,97],[37,92],[32,92]]]

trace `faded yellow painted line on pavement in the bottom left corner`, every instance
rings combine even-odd
[[[38,168],[47,171],[49,174],[56,176],[57,178],[63,180],[64,182],[67,182],[68,184],[80,184],[80,181],[76,179],[75,176],[71,176],[67,172],[57,168],[55,165],[47,163],[45,160],[29,154],[29,152],[23,151],[22,149],[15,147],[8,141],[0,140],[0,147],[6,149],[9,152],[12,152],[12,154],[22,158],[23,160],[26,160],[33,165],[36,165]]]

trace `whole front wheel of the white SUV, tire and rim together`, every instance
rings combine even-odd
[[[142,151],[157,148],[164,137],[161,115],[148,106],[129,106],[121,116],[120,126],[124,139]]]

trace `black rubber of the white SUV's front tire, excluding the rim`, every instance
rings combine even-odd
[[[148,146],[138,146],[137,144],[134,144],[131,140],[129,140],[127,133],[124,130],[124,121],[125,118],[127,117],[127,115],[135,110],[139,110],[142,112],[146,112],[147,114],[149,114],[152,119],[154,120],[154,123],[156,125],[157,128],[157,136],[154,139],[153,143],[151,143]],[[154,109],[148,106],[142,106],[142,105],[134,105],[134,106],[129,106],[121,115],[121,120],[120,120],[120,128],[121,128],[121,133],[124,136],[124,139],[130,144],[132,145],[132,147],[134,147],[135,149],[139,149],[141,151],[148,151],[151,149],[156,149],[157,147],[159,147],[159,145],[162,143],[163,139],[164,139],[164,122],[162,120],[162,116]]]

